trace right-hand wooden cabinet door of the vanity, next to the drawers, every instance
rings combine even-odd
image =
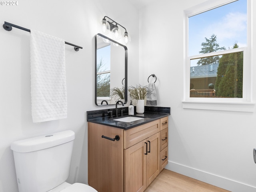
[[[147,143],[146,184],[148,186],[160,173],[160,132],[147,138]]]

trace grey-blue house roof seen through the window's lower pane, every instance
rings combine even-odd
[[[190,78],[204,78],[204,77],[216,77],[219,64],[200,65],[190,67]],[[194,68],[194,72],[193,72]]]

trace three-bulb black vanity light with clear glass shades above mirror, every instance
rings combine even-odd
[[[108,34],[108,32],[111,31],[112,38],[114,40],[119,40],[120,38],[122,38],[123,43],[128,44],[131,41],[130,35],[128,35],[126,28],[124,28],[125,32],[124,32],[124,34],[122,34],[122,32],[118,26],[124,28],[122,25],[120,25],[117,22],[115,22],[114,20],[110,19],[108,16],[104,16],[104,18],[100,22],[100,33]]]

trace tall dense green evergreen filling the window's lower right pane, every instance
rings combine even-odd
[[[237,43],[233,48],[238,48]],[[243,52],[236,52],[220,58],[215,84],[216,96],[242,98],[243,57]]]

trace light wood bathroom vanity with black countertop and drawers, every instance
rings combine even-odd
[[[89,119],[89,185],[98,192],[143,192],[168,163],[168,115]]]

